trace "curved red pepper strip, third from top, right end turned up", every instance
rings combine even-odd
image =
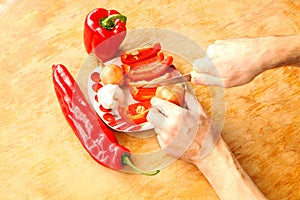
[[[130,69],[130,71],[127,73],[127,76],[132,81],[152,80],[153,78],[157,78],[166,72],[168,67],[171,66],[172,62],[173,57],[168,56],[161,62]]]

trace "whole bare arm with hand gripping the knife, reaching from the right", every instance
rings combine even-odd
[[[217,40],[207,55],[194,62],[199,74],[192,82],[234,87],[246,84],[265,70],[300,66],[300,34]]]

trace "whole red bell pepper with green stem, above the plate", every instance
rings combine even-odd
[[[97,8],[91,11],[84,24],[87,53],[94,52],[104,62],[112,59],[125,39],[126,20],[116,10]]]

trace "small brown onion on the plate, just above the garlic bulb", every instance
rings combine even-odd
[[[122,84],[123,83],[123,70],[120,66],[110,64],[103,67],[100,71],[100,79],[103,84]]]

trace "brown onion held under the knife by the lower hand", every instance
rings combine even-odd
[[[184,103],[184,94],[184,85],[182,83],[178,83],[174,85],[157,87],[155,96],[182,106]]]

